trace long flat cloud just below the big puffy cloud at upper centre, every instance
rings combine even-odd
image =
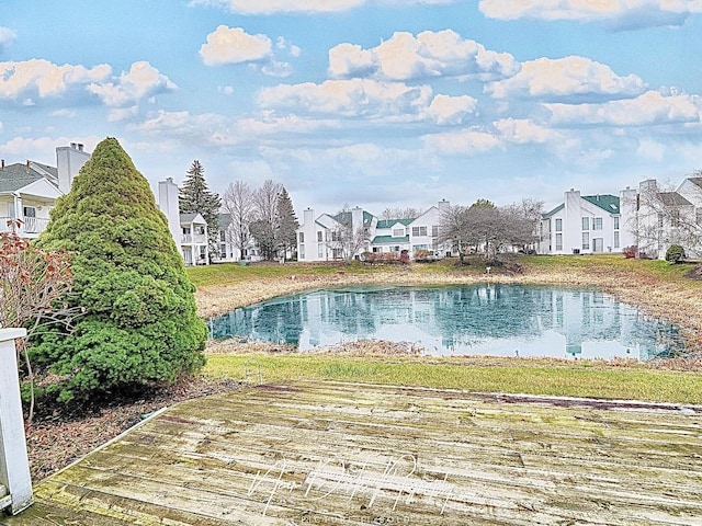
[[[263,108],[285,107],[317,115],[389,117],[414,115],[431,102],[431,88],[367,79],[327,80],[321,84],[280,84],[258,94]]]

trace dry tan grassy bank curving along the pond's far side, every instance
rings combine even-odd
[[[592,264],[526,266],[522,273],[491,274],[467,273],[456,268],[453,272],[427,273],[422,265],[410,264],[403,267],[374,268],[373,272],[354,274],[343,267],[330,275],[295,274],[295,265],[290,265],[290,274],[283,277],[253,278],[229,284],[202,286],[196,300],[200,316],[208,318],[246,307],[276,296],[316,288],[355,285],[458,285],[476,283],[502,283],[523,285],[557,285],[592,287],[613,295],[616,299],[637,306],[644,313],[665,320],[681,329],[688,347],[702,351],[702,309],[698,282],[666,281],[653,274],[635,272],[616,265],[607,265],[591,260]],[[222,344],[211,342],[210,348],[222,352]],[[675,362],[669,364],[675,367]],[[697,367],[688,362],[684,368]]]

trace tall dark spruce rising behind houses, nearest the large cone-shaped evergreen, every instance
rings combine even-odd
[[[180,188],[178,202],[181,214],[200,214],[207,221],[210,253],[218,253],[219,243],[219,195],[207,190],[205,169],[197,159],[188,170],[188,178]]]

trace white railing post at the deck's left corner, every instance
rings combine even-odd
[[[14,340],[24,336],[25,329],[0,329],[0,484],[8,493],[0,494],[0,508],[12,515],[33,502],[14,346]]]

